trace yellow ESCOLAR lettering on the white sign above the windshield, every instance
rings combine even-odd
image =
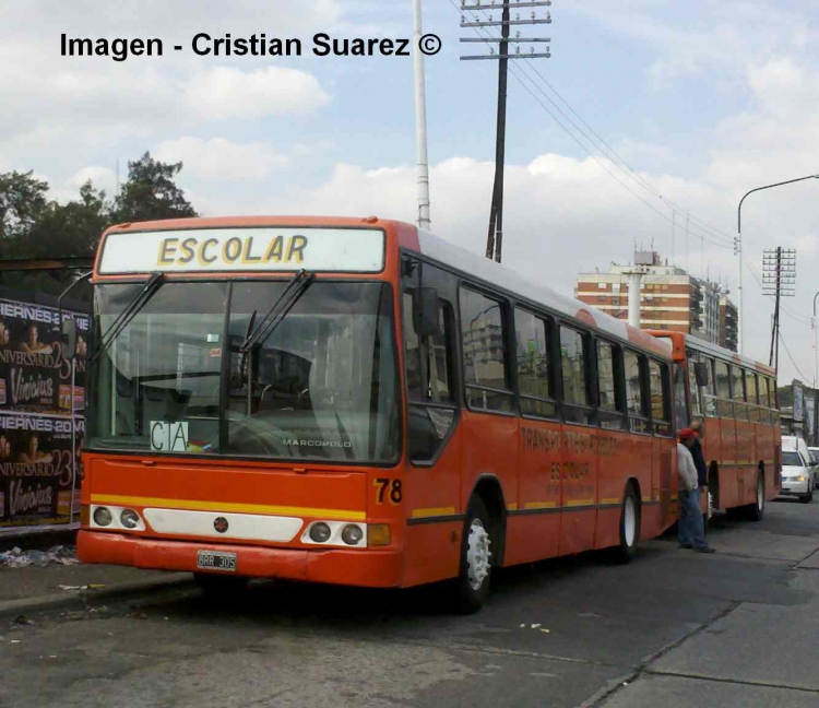
[[[233,236],[219,245],[216,238],[163,238],[156,264],[185,268],[194,261],[200,266],[252,266],[259,263],[302,263],[308,246],[307,236]]]

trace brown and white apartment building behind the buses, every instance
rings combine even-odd
[[[656,251],[636,251],[633,263],[612,263],[607,273],[581,273],[574,295],[613,317],[628,320],[629,273],[634,272],[642,275],[640,327],[686,332],[714,344],[727,342],[736,351],[737,309],[727,293],[717,283],[664,263]],[[724,310],[721,303],[725,304]]]

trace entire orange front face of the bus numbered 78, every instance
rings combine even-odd
[[[105,235],[84,562],[402,583],[395,263],[383,225],[302,222]]]

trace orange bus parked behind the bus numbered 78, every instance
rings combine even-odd
[[[703,512],[759,521],[782,485],[776,371],[696,337],[649,332],[672,344],[677,426],[702,423]]]

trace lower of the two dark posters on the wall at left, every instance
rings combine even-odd
[[[74,425],[79,449],[84,423]],[[66,416],[0,413],[0,528],[68,523],[79,514],[71,426]]]

